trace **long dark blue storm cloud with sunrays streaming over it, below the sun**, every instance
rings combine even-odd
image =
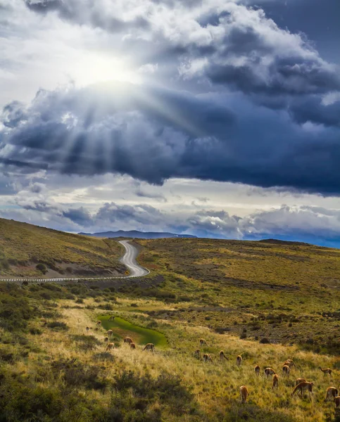
[[[67,174],[129,174],[154,184],[189,177],[340,193],[334,103],[305,101],[305,117],[291,108],[301,123],[312,112],[318,120],[334,115],[327,129],[301,127],[286,111],[254,106],[239,94],[194,96],[127,84],[105,85],[103,96],[97,89],[41,91],[25,117],[0,135],[1,161]]]

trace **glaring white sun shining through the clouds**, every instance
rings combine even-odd
[[[86,53],[78,57],[72,64],[70,76],[80,86],[110,81],[140,83],[138,73],[132,70],[126,60],[99,53]]]

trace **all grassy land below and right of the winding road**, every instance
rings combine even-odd
[[[1,421],[339,422],[325,397],[340,389],[340,251],[277,241],[138,243],[137,260],[151,270],[141,279],[0,282]],[[150,342],[153,353],[143,350]],[[289,376],[286,359],[295,363]],[[291,395],[299,377],[314,383],[313,395]]]

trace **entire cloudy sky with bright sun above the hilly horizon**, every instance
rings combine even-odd
[[[340,247],[339,0],[0,0],[0,217]]]

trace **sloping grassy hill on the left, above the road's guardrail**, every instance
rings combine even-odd
[[[122,252],[115,241],[0,219],[0,277],[115,274]]]

